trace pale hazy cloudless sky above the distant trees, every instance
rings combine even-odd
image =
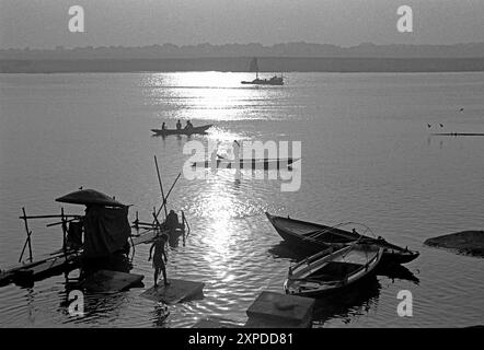
[[[68,31],[71,5],[85,33]],[[414,33],[396,31],[411,5]],[[0,47],[484,42],[484,0],[0,0]]]

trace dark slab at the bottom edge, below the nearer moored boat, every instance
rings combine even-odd
[[[246,326],[277,324],[277,327],[283,327],[287,324],[289,327],[308,327],[312,322],[314,303],[310,298],[262,292],[246,311]]]

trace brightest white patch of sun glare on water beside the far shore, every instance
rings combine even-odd
[[[193,120],[261,119],[258,101],[275,98],[280,91],[247,89],[241,73],[178,72],[149,73],[139,85],[147,105],[159,106],[153,117]]]

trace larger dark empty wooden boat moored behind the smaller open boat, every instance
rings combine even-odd
[[[268,212],[266,215],[285,241],[311,253],[326,249],[329,246],[343,247],[362,238],[366,243],[383,248],[383,264],[405,264],[416,259],[419,255],[418,252],[402,248],[381,237],[373,238],[338,228],[276,217]]]

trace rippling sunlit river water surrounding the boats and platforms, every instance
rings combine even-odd
[[[262,291],[281,292],[301,257],[264,212],[326,224],[356,221],[378,235],[420,250],[396,275],[318,301],[315,326],[470,326],[482,324],[483,260],[430,249],[430,236],[480,229],[484,139],[430,137],[484,131],[484,74],[287,74],[288,84],[247,88],[239,73],[2,74],[0,77],[0,266],[18,259],[27,213],[58,212],[54,198],[94,187],[135,205],[149,220],[160,202],[152,156],[164,183],[182,170],[189,140],[302,141],[302,186],[242,172],[181,178],[170,206],[184,210],[192,233],[170,250],[169,277],[206,283],[204,299],[170,306],[139,296],[142,289],[88,295],[87,315],[67,313],[64,276],[0,290],[1,326],[191,327],[219,316],[239,324]],[[465,113],[459,113],[461,106]],[[207,136],[151,137],[161,120],[214,124]],[[440,129],[438,129],[440,131]],[[66,206],[69,212],[82,212]],[[33,223],[35,254],[61,244],[60,232]],[[134,273],[152,285],[149,246],[136,247]],[[76,275],[76,271],[73,272]],[[414,295],[414,317],[396,315],[396,294]]]

